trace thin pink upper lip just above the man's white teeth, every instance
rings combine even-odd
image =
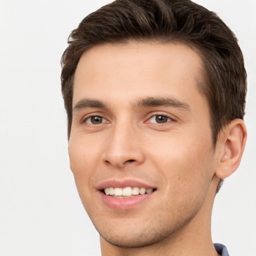
[[[102,190],[106,187],[120,187],[124,188],[127,186],[138,186],[145,188],[156,188],[155,186],[135,179],[109,179],[100,182],[97,186],[97,190]]]

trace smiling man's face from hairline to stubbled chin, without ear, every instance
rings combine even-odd
[[[106,241],[145,246],[196,219],[214,174],[201,59],[184,44],[86,51],[74,78],[70,167]]]

